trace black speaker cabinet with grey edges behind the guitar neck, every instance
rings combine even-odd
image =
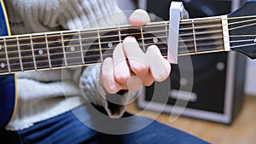
[[[163,20],[169,20],[171,2],[171,0],[148,0],[141,1],[139,5],[149,13]],[[188,10],[189,18],[229,14],[232,8],[236,9],[234,7],[240,4],[231,0],[181,2]],[[191,59],[192,70],[184,66],[187,65],[186,59]],[[243,103],[246,60],[246,56],[235,52],[181,56],[179,61],[183,63],[172,65],[170,80],[146,87],[137,100],[137,107],[232,124]],[[188,89],[187,85],[190,82],[193,84],[191,89]],[[154,92],[155,88],[166,84],[170,84],[167,99],[161,92]]]

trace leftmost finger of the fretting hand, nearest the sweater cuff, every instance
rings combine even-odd
[[[102,85],[110,94],[117,93],[122,89],[113,77],[113,59],[108,57],[102,63]]]

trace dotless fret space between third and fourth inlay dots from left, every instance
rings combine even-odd
[[[81,32],[81,43],[83,46],[84,55],[84,65],[91,63],[98,63],[101,60],[99,44],[98,44],[98,34],[95,31],[82,31]],[[102,53],[103,54],[103,53]]]

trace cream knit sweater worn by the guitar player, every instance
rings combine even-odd
[[[115,0],[8,0],[5,5],[13,34],[126,23],[124,14],[110,14],[120,11]],[[108,102],[103,99],[104,89],[97,82],[99,70],[100,66],[87,66],[81,77],[73,69],[19,73],[18,107],[6,129],[24,130],[80,106],[83,103],[80,88],[91,102],[105,107],[111,117],[118,118],[124,106],[117,107],[114,113],[108,109]],[[102,89],[101,95],[96,84]]]

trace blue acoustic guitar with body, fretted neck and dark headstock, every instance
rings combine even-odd
[[[155,44],[167,55],[169,21],[146,26],[42,32],[10,36],[3,0],[0,13],[0,129],[14,116],[17,72],[44,71],[100,64],[127,36],[137,38],[143,51]],[[178,55],[235,50],[256,58],[256,0],[226,15],[180,21]]]

